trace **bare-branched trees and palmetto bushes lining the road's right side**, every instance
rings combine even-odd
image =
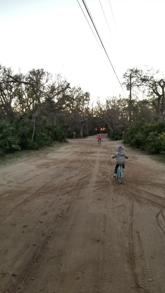
[[[159,70],[128,69],[124,74],[124,84],[134,93],[140,92],[143,104],[139,116],[141,121],[135,123],[132,100],[129,100],[131,120],[124,135],[124,143],[140,148],[148,154],[165,154],[165,78]],[[147,105],[146,106],[144,105]],[[143,115],[141,115],[143,113]],[[145,118],[144,118],[145,117]],[[147,123],[148,122],[148,123]]]

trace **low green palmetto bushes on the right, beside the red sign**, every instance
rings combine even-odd
[[[123,142],[148,154],[165,154],[165,123],[139,123],[128,127]]]

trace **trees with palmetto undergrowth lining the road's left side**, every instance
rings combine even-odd
[[[90,94],[43,69],[0,68],[0,154],[96,133]]]

